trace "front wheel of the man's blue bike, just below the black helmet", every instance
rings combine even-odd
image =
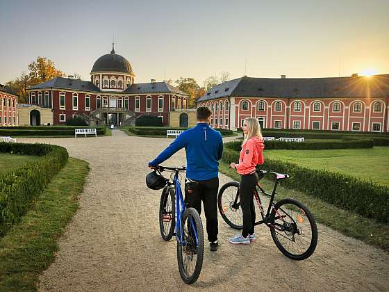
[[[163,188],[159,204],[159,229],[164,241],[172,239],[175,225],[176,194],[173,188]]]

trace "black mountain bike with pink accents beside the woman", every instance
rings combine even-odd
[[[260,179],[265,177],[265,170],[256,170]],[[258,182],[261,193],[270,197],[267,211],[260,202],[258,190],[254,190],[254,200],[260,211],[262,220],[255,225],[265,224],[270,228],[270,234],[276,247],[286,257],[302,260],[311,257],[317,245],[317,226],[311,211],[301,202],[285,198],[274,204],[277,184],[281,179],[287,179],[289,175],[270,172],[276,181],[272,194],[266,193]],[[217,205],[224,221],[235,229],[243,228],[242,209],[239,200],[239,183],[231,181],[220,188],[217,196]]]

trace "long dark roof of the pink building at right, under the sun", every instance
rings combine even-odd
[[[226,90],[229,88],[229,90]],[[231,90],[231,88],[233,88]],[[230,92],[231,91],[231,92]],[[228,94],[230,92],[230,94]],[[214,86],[197,102],[220,97],[361,98],[389,97],[389,74],[329,78],[251,78]]]

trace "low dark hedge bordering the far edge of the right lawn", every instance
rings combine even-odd
[[[225,143],[226,148],[240,151],[242,140]],[[372,148],[371,139],[322,141],[311,140],[305,142],[265,141],[265,149],[288,149],[288,150],[319,150],[319,149],[347,149],[347,148]]]

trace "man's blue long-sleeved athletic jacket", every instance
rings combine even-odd
[[[222,134],[210,129],[206,122],[183,131],[149,166],[157,166],[174,153],[185,147],[186,177],[195,181],[204,181],[218,176],[219,160],[223,154]]]

